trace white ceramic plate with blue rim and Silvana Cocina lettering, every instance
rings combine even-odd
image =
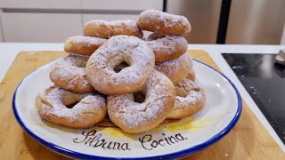
[[[114,127],[69,129],[50,124],[37,114],[35,99],[52,82],[48,75],[55,61],[38,68],[18,86],[12,107],[20,126],[53,151],[73,158],[178,158],[189,156],[220,140],[232,130],[241,112],[234,84],[214,68],[194,60],[197,83],[207,94],[198,114],[142,134],[126,134]]]

